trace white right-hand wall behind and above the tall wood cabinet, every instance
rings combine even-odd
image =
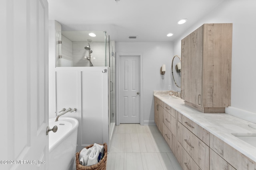
[[[226,113],[256,123],[256,1],[226,0],[174,42],[181,54],[181,39],[204,23],[233,23],[231,106]],[[189,21],[189,18],[188,18]],[[245,117],[248,113],[249,116]]]

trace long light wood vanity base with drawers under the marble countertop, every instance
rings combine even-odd
[[[156,97],[154,103],[156,125],[184,170],[256,170],[256,162],[196,121],[170,106],[164,109]]]

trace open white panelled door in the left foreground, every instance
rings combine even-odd
[[[1,0],[0,11],[0,169],[47,170],[48,2]]]

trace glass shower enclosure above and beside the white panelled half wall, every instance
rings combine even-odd
[[[110,67],[109,144],[116,125],[115,42],[106,31],[59,31],[56,33],[56,67]]]

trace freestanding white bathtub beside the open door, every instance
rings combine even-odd
[[[76,157],[78,120],[72,117],[58,120],[49,119],[50,129],[58,126],[56,133],[49,132],[49,169],[71,170]]]

